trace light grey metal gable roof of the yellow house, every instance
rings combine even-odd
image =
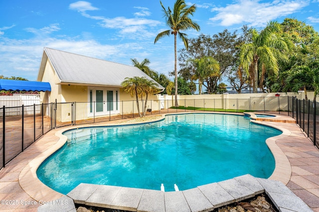
[[[56,71],[60,83],[121,86],[126,77],[144,76],[153,80],[137,67],[44,48],[38,81],[42,79],[47,59]],[[157,84],[160,89],[163,89],[159,83]]]

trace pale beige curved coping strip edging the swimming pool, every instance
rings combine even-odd
[[[164,119],[166,115],[180,115],[180,114],[193,114],[193,113],[243,115],[243,114],[239,114],[239,113],[234,114],[234,113],[216,113],[216,112],[186,112],[186,113],[162,114],[160,116],[160,119],[158,119],[158,120],[139,122],[138,124],[145,124],[145,123],[151,123],[151,122],[160,121],[160,120]],[[253,120],[251,120],[251,121],[252,122],[256,122],[256,121],[253,121]],[[285,186],[290,180],[290,176],[291,176],[291,173],[292,173],[291,165],[289,163],[288,158],[284,154],[284,152],[276,144],[276,140],[288,137],[290,135],[290,132],[288,130],[284,129],[284,128],[274,127],[271,124],[261,123],[261,122],[256,122],[256,123],[257,124],[264,124],[264,125],[279,129],[279,130],[281,130],[283,132],[279,136],[267,139],[266,143],[269,146],[269,148],[271,149],[271,151],[272,151],[272,153],[273,153],[273,155],[275,157],[275,161],[276,161],[275,170],[274,170],[273,174],[271,175],[271,177],[268,180],[281,181],[283,183],[283,185]],[[129,123],[129,124],[131,124],[131,123]],[[46,185],[44,185],[36,176],[36,170],[40,166],[40,164],[48,156],[50,156],[52,153],[54,153],[56,150],[58,150],[61,146],[63,146],[65,144],[66,136],[62,135],[62,133],[64,131],[67,131],[67,130],[82,128],[82,127],[121,126],[121,125],[127,125],[127,124],[125,124],[125,123],[113,124],[112,123],[111,125],[108,125],[108,123],[103,123],[103,124],[92,124],[92,125],[79,125],[79,126],[64,127],[63,129],[57,131],[55,133],[55,136],[59,137],[59,141],[56,142],[53,146],[51,146],[47,150],[45,150],[44,152],[42,152],[36,158],[31,160],[22,169],[22,171],[21,171],[21,173],[19,174],[19,177],[18,177],[20,186],[22,187],[22,189],[30,197],[32,197],[36,201],[39,201],[39,200],[41,200],[41,201],[52,201],[52,200],[57,200],[57,199],[60,199],[60,198],[66,198],[65,195],[63,195],[61,193],[58,193],[58,192],[52,190],[51,188],[47,187]],[[218,182],[218,183],[220,183],[220,182]],[[207,185],[210,185],[210,184],[207,184]],[[34,189],[34,188],[36,188],[36,189]],[[156,190],[150,190],[150,191],[156,191]],[[188,191],[188,190],[185,190],[185,191]],[[183,191],[183,192],[185,193],[185,191]],[[170,193],[170,192],[165,192],[165,193]],[[180,193],[180,192],[177,192],[177,193]],[[196,195],[196,194],[194,194],[194,195]],[[172,195],[172,196],[175,196],[175,195]],[[41,207],[45,207],[45,206],[47,206],[47,205],[44,205],[44,206],[41,206]]]

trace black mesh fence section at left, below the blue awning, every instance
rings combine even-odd
[[[0,168],[52,129],[52,104],[0,108]]]

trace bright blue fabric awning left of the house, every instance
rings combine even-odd
[[[49,82],[0,79],[0,90],[51,91]]]

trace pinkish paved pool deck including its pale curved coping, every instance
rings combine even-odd
[[[281,116],[291,119],[288,116]],[[83,127],[123,124],[123,121],[83,125]],[[270,147],[276,159],[276,170],[270,179],[287,184],[287,187],[313,211],[319,212],[319,150],[313,145],[312,141],[305,137],[305,134],[296,124],[263,123],[285,129],[283,130],[285,137],[279,136],[280,138],[270,141],[272,144],[276,143],[274,145],[276,151]],[[7,201],[7,204],[4,202],[5,204],[1,205],[1,211],[37,211],[42,203],[50,204],[50,201],[61,197],[65,198],[62,194],[42,184],[37,179],[35,171],[37,164],[40,164],[47,155],[55,151],[51,147],[62,142],[55,134],[79,127],[81,126],[64,127],[48,132],[10,161],[5,168],[1,169],[0,199]],[[280,160],[283,161],[282,164],[277,162]],[[169,195],[168,192],[166,193]]]

